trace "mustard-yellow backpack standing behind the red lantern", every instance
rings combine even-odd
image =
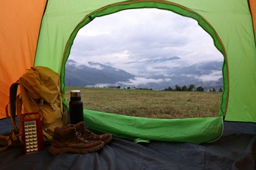
[[[17,95],[18,91],[20,93]],[[41,114],[45,142],[51,141],[55,127],[67,125],[68,110],[62,102],[64,95],[60,91],[60,77],[48,67],[31,67],[11,85],[9,95],[10,100],[5,110],[7,118],[11,117],[13,129],[8,136],[0,135],[0,144],[4,146],[0,151],[11,145],[23,144],[22,114],[24,113],[39,112]]]

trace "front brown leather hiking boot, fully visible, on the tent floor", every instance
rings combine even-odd
[[[103,148],[102,141],[87,141],[76,131],[75,126],[56,127],[49,152],[51,154],[76,153],[86,154]]]

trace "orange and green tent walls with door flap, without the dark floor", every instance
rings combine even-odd
[[[0,118],[12,82],[32,66],[56,71],[65,92],[65,63],[75,35],[94,18],[126,9],[157,8],[193,18],[223,54],[223,94],[217,118],[158,120],[84,110],[88,126],[131,140],[204,143],[221,136],[223,120],[256,123],[256,3],[249,1],[1,1]],[[107,123],[106,123],[107,122]]]

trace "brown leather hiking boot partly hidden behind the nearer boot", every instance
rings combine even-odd
[[[102,135],[96,135],[92,131],[85,126],[85,122],[78,122],[75,124],[75,128],[79,133],[81,133],[81,137],[88,141],[103,141],[104,144],[108,144],[112,140],[112,134],[105,133]]]

